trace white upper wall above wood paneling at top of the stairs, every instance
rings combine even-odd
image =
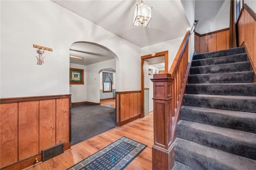
[[[229,27],[230,0],[196,0],[197,33],[204,34]]]

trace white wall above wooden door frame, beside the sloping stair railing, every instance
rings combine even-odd
[[[141,49],[141,55],[149,55],[152,53],[152,51],[155,51],[156,53],[168,51],[168,70],[170,70],[172,62],[174,61],[178,49],[180,48],[180,44],[182,43],[183,38],[184,37],[179,37],[169,41],[164,41],[162,43],[150,45],[148,47],[143,47]]]

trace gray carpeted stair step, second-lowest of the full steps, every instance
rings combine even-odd
[[[177,137],[256,160],[256,134],[180,120]]]

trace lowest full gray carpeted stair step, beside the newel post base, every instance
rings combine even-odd
[[[256,160],[176,138],[174,158],[195,170],[255,170]]]

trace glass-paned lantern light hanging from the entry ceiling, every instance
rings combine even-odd
[[[146,27],[151,20],[152,8],[145,5],[142,1],[140,5],[136,5],[133,15],[133,25]]]

